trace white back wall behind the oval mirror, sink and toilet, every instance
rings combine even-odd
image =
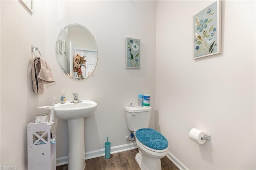
[[[154,108],[156,2],[62,1],[58,4],[49,1],[46,6],[46,56],[56,78],[56,83],[47,88],[47,101],[50,104],[52,97],[59,101],[61,91],[66,90],[67,100],[73,99],[71,93],[78,93],[80,100],[98,103],[95,114],[85,119],[86,152],[104,148],[107,136],[111,146],[128,143],[125,136],[130,131],[124,107],[129,101],[138,105],[139,93],[150,93]],[[70,23],[88,28],[98,47],[97,67],[84,81],[69,79],[54,58],[60,29]],[[141,39],[141,69],[125,68],[125,37]],[[67,123],[58,120],[54,126],[61,141],[57,145],[57,157],[67,156]]]

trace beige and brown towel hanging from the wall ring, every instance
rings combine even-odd
[[[32,87],[34,92],[42,95],[44,93],[44,84],[54,81],[54,76],[48,63],[41,57],[35,57],[32,65]]]

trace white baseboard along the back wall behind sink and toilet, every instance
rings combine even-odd
[[[132,150],[138,148],[136,142],[131,142],[130,144],[123,144],[119,146],[113,146],[111,147],[111,154],[118,153],[118,152],[124,152],[126,150]],[[90,152],[85,153],[85,159],[92,159],[97,158],[100,156],[105,155],[105,148],[99,149],[99,150],[92,150]],[[60,157],[56,159],[56,166],[68,164],[68,156]]]

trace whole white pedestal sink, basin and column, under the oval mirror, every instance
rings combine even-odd
[[[54,117],[68,121],[68,169],[84,170],[84,118],[92,115],[97,107],[94,101],[64,104],[55,106]]]

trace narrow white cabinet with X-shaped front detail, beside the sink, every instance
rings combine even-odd
[[[56,136],[47,123],[28,124],[28,170],[56,170]]]

